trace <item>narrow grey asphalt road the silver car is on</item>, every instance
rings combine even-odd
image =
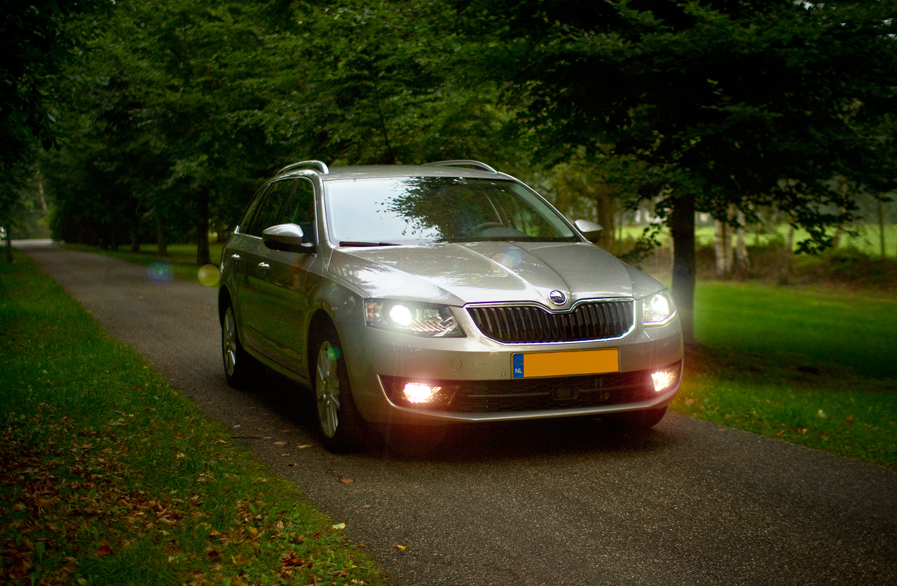
[[[426,455],[335,456],[300,387],[227,386],[215,289],[23,246],[396,583],[897,584],[893,471],[675,414],[635,437],[563,420],[467,430]]]

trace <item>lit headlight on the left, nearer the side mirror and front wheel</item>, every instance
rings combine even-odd
[[[366,322],[373,327],[426,338],[464,337],[464,331],[447,306],[365,299],[364,312]]]

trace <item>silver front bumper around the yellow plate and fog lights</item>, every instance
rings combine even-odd
[[[682,333],[678,319],[637,326],[621,340],[502,344],[465,324],[466,338],[419,338],[340,323],[353,397],[363,418],[379,424],[558,418],[663,407],[681,379]],[[583,349],[619,350],[619,372],[606,375],[517,378],[512,355]],[[680,376],[655,392],[651,374],[679,365]],[[450,401],[410,405],[406,382],[440,385]]]

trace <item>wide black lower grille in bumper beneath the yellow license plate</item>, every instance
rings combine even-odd
[[[432,381],[441,385],[440,399],[431,405],[411,405],[402,399],[408,379],[381,376],[390,401],[415,409],[457,413],[508,413],[624,405],[656,396],[651,371],[607,375],[557,376],[512,381]]]

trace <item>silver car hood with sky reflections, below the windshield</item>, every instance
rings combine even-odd
[[[328,270],[370,297],[452,306],[534,301],[561,309],[581,298],[643,297],[663,288],[588,243],[341,247]],[[553,290],[562,291],[567,303],[551,303]]]

